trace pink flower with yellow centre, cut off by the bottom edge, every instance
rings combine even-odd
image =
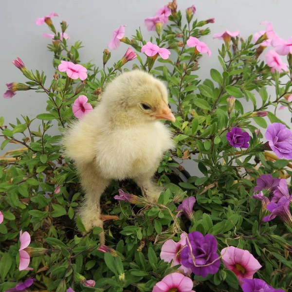
[[[162,281],[156,283],[152,292],[195,292],[193,281],[180,273],[172,273],[165,276]]]

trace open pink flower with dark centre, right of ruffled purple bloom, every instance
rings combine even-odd
[[[234,246],[223,248],[221,256],[226,269],[237,275],[239,284],[243,283],[242,279],[252,279],[256,271],[262,267],[249,251]]]

